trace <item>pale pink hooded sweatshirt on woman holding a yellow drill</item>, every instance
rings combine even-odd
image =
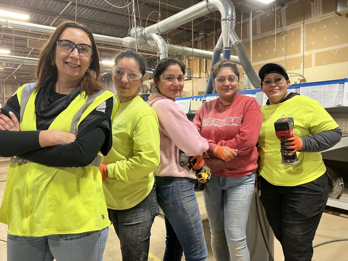
[[[173,100],[153,93],[149,96],[148,104],[156,112],[159,122],[161,159],[153,173],[156,176],[196,179],[196,171],[179,165],[179,149],[187,156],[202,155],[209,148],[208,142]]]

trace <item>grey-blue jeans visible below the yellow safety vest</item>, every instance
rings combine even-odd
[[[7,235],[7,261],[102,261],[109,228],[79,234]]]

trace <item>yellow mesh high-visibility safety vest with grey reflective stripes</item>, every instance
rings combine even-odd
[[[17,90],[21,105],[21,130],[36,130],[36,83]],[[93,96],[82,92],[48,129],[77,134],[80,122],[108,98],[113,97],[112,118],[119,100],[108,90]],[[99,171],[101,153],[86,167],[50,167],[27,160],[10,159],[0,222],[7,233],[18,236],[77,234],[109,226]]]

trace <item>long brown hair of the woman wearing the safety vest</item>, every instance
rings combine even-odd
[[[92,32],[85,25],[72,21],[63,22],[58,25],[47,43],[42,47],[35,72],[37,76],[37,88],[40,88],[48,81],[55,82],[57,80],[57,68],[52,65],[52,61],[54,59],[56,41],[66,28],[76,28],[86,32],[90,42],[92,43],[93,60],[90,63],[89,71],[86,72],[84,77],[80,80],[81,93],[85,91],[86,95],[91,96],[105,88],[101,83],[100,59],[97,45]]]

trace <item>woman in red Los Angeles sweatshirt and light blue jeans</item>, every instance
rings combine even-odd
[[[211,244],[217,261],[249,261],[246,223],[253,197],[256,142],[262,123],[260,105],[237,94],[239,70],[228,60],[212,70],[213,87],[219,97],[203,103],[193,123],[209,149],[203,153],[212,170],[203,198],[207,210]]]

